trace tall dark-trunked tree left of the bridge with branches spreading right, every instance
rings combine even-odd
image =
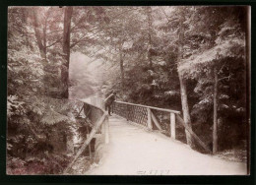
[[[100,47],[100,32],[107,19],[102,7],[64,7],[63,53],[65,62],[61,68],[63,97],[69,92],[70,53],[79,51],[89,56],[96,55],[95,48]]]

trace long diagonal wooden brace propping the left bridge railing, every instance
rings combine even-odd
[[[96,126],[92,129],[89,138],[87,138],[87,140],[84,142],[84,144],[82,145],[81,149],[78,151],[78,153],[75,155],[74,159],[70,162],[70,164],[66,167],[66,169],[64,170],[64,174],[67,173],[69,171],[69,169],[72,167],[72,165],[75,163],[75,161],[77,160],[77,158],[80,156],[80,154],[82,154],[85,149],[87,148],[87,146],[90,144],[90,142],[93,140],[93,138],[96,135],[97,130],[99,129],[99,127],[102,125],[105,117],[107,116],[106,113],[104,113],[101,118],[99,119],[99,121],[97,121]]]

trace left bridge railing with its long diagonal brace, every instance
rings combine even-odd
[[[77,103],[78,114],[76,117],[82,117],[85,121],[85,126],[91,127],[91,132],[87,135],[86,141],[83,143],[77,154],[75,154],[71,163],[67,166],[64,173],[67,173],[71,166],[75,163],[77,158],[86,150],[87,147],[90,146],[93,138],[96,137],[96,134],[101,134],[104,137],[104,143],[108,144],[109,142],[109,124],[108,124],[108,115],[107,113],[100,107],[95,104],[85,101],[79,100]]]

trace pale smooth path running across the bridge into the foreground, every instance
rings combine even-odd
[[[200,154],[124,118],[109,117],[110,142],[90,175],[244,175],[246,163]]]

